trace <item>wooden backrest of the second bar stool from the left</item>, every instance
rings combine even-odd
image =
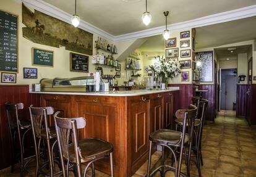
[[[30,120],[33,130],[33,135],[36,138],[41,138],[41,129],[45,128],[46,138],[49,139],[49,126],[48,126],[48,115],[53,115],[53,107],[33,107],[30,105],[28,108],[30,112]],[[43,124],[44,121],[44,124]]]

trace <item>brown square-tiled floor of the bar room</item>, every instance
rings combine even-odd
[[[256,127],[249,126],[244,118],[234,117],[232,111],[221,111],[215,123],[207,123],[203,129],[202,139],[203,177],[256,176]],[[156,152],[155,159],[160,156]],[[166,160],[168,163],[169,160]],[[19,176],[19,168],[15,173],[9,169],[0,171],[1,177]],[[145,163],[134,177],[145,176]],[[33,168],[25,176],[33,175]],[[186,171],[186,165],[182,165]],[[191,177],[198,176],[197,168],[192,164]],[[97,172],[96,177],[108,176]],[[159,176],[159,175],[156,175]],[[173,172],[166,176],[174,176]],[[122,176],[117,176],[122,177]]]

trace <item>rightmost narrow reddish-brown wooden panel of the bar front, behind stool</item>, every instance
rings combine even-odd
[[[163,128],[173,128],[173,93],[164,94],[164,121]]]

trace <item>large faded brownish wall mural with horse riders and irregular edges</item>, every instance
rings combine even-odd
[[[67,50],[92,55],[93,34],[75,28],[69,23],[43,14],[32,12],[22,4],[23,37],[33,43],[47,46],[65,46]]]

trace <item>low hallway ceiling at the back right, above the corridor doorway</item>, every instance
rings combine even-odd
[[[228,51],[228,49],[236,48],[233,52]],[[248,53],[252,49],[252,45],[245,46],[233,46],[233,47],[223,47],[216,48],[215,54],[218,60],[237,60],[237,54]]]

